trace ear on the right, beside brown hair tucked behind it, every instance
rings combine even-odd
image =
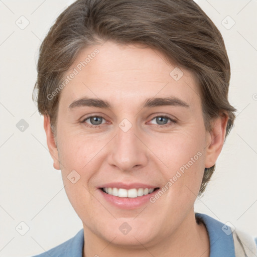
[[[206,138],[205,168],[212,167],[218,159],[225,140],[227,121],[226,113],[212,121],[211,132],[207,133]]]

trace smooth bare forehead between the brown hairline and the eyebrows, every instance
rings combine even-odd
[[[143,98],[174,96],[190,105],[200,103],[199,88],[187,69],[169,64],[164,56],[142,45],[105,42],[80,51],[65,73],[60,104],[81,97],[108,99],[120,104],[142,104]]]

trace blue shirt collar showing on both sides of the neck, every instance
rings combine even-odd
[[[200,219],[208,232],[210,241],[209,257],[235,257],[232,230],[226,224],[203,213],[195,213],[196,220]],[[257,237],[254,238],[257,245]],[[83,257],[84,230],[63,242],[62,244],[33,257]]]

